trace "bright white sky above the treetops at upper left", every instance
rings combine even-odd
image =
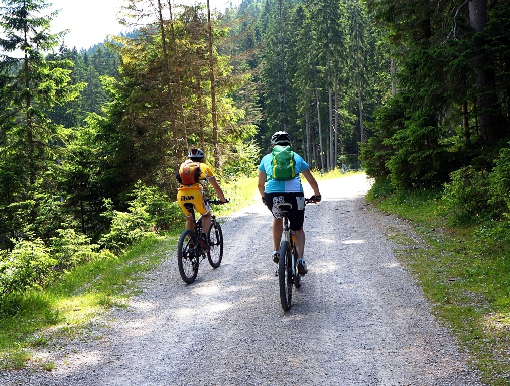
[[[206,0],[180,0],[172,3],[206,4]],[[76,46],[78,50],[88,49],[90,46],[102,42],[108,35],[118,35],[124,31],[117,21],[117,14],[121,6],[127,5],[126,0],[48,0],[52,3],[51,10],[61,9],[59,15],[52,21],[52,32],[70,29],[65,36],[64,43],[70,49]],[[231,0],[210,0],[211,8],[223,10],[229,6]],[[240,1],[233,0],[233,4]]]

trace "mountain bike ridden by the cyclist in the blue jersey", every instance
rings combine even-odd
[[[305,199],[304,203],[312,201]],[[285,240],[280,244],[280,260],[278,262],[278,282],[280,288],[280,301],[284,311],[288,311],[292,301],[292,286],[301,286],[301,275],[297,272],[297,251],[294,245],[294,232],[289,228],[289,210],[292,204],[282,202],[276,205],[284,221]]]

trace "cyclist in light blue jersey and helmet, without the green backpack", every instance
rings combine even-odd
[[[271,136],[271,146],[290,146],[290,135],[285,131],[277,131]],[[303,186],[299,174],[308,181],[314,190],[314,196],[310,197],[311,202],[319,202],[321,195],[319,186],[312,173],[310,173],[310,166],[302,157],[294,153],[295,162],[295,177],[288,180],[278,180],[272,178],[272,154],[265,155],[259,165],[259,191],[262,196],[262,201],[267,205],[268,209],[273,214],[273,261],[279,261],[280,242],[282,240],[282,214],[276,207],[278,203],[289,202],[292,204],[292,209],[289,211],[289,226],[294,231],[294,241],[298,255],[297,269],[299,274],[307,274],[307,263],[303,259],[304,251],[304,194]]]

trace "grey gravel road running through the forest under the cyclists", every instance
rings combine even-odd
[[[304,222],[309,274],[290,311],[279,301],[271,214],[253,205],[224,219],[219,269],[206,260],[185,285],[169,256],[129,308],[85,331],[87,343],[38,353],[53,371],[4,373],[0,384],[480,385],[395,259],[385,234],[411,232],[405,222],[365,202],[364,175],[319,186],[323,201],[307,205]]]

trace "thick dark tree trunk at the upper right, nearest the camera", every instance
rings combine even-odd
[[[487,0],[470,0],[469,21],[471,28],[476,32],[487,27]],[[484,48],[483,38],[475,38],[474,47],[477,51],[473,65],[478,90],[476,101],[480,120],[480,139],[482,142],[494,142],[504,137],[508,130],[508,123],[505,122],[501,113],[496,93],[496,77],[487,50]]]

